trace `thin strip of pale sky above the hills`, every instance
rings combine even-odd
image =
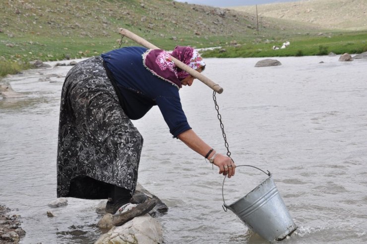
[[[298,1],[298,0],[176,0],[181,2],[187,2],[191,4],[201,4],[213,7],[232,7],[232,6],[245,6],[245,5],[259,5],[265,3],[276,3],[286,1]]]

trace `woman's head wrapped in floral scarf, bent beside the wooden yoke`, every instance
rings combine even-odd
[[[205,69],[203,58],[192,47],[177,46],[171,55],[194,70],[201,72]],[[177,76],[181,81],[183,81],[189,76],[189,74],[178,68]]]

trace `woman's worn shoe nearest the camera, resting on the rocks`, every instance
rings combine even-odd
[[[133,209],[126,210],[127,208],[125,208],[126,211],[123,212],[122,210],[121,213],[120,211],[118,211],[118,213],[112,216],[112,224],[114,226],[121,226],[137,216],[147,214],[150,210],[154,208],[157,202],[157,199],[151,199],[145,201],[144,203],[136,205],[136,207],[134,207]]]

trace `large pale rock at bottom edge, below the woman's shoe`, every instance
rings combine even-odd
[[[135,217],[122,226],[112,228],[95,242],[95,244],[112,243],[163,243],[162,226],[148,214]]]

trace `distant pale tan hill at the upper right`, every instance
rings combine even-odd
[[[255,13],[256,6],[231,9]],[[259,16],[309,23],[324,29],[367,30],[366,0],[302,0],[257,5]]]

